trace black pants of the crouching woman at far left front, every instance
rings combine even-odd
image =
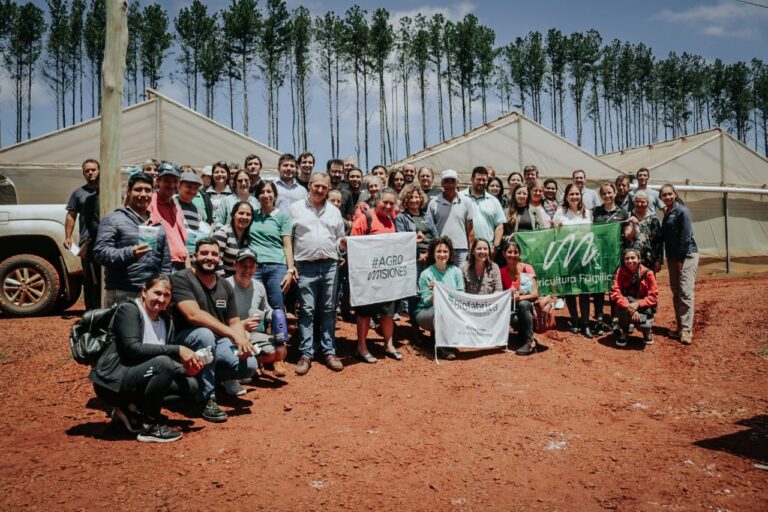
[[[128,369],[120,396],[127,403],[135,403],[147,416],[157,418],[166,396],[192,396],[194,382],[194,378],[187,378],[184,365],[168,356],[157,356]]]

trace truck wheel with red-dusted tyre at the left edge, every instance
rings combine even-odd
[[[47,313],[59,298],[59,274],[49,261],[18,254],[0,263],[0,310],[14,316]]]

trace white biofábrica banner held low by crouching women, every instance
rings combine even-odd
[[[506,346],[512,294],[470,295],[435,282],[435,346]]]

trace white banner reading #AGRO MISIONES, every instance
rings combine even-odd
[[[416,233],[347,237],[350,303],[411,297],[416,290]]]

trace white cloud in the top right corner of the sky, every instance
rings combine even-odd
[[[760,27],[768,21],[768,9],[720,1],[681,11],[664,9],[656,19],[687,25],[709,37],[759,40],[763,33]]]

